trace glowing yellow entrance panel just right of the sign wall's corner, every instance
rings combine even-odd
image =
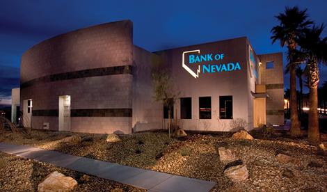
[[[266,98],[255,98],[253,101],[253,127],[266,125]]]

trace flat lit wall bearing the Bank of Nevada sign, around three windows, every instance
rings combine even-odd
[[[223,53],[225,58],[217,63],[239,62],[241,70],[200,74],[195,79],[182,67],[183,51],[200,49],[200,54]],[[232,121],[242,119],[248,122],[248,77],[246,61],[246,38],[236,38],[211,42],[202,45],[181,47],[157,54],[163,56],[167,67],[172,71],[175,86],[180,90],[180,97],[192,97],[192,119],[180,120],[186,130],[229,131]],[[201,63],[202,64],[202,63]],[[219,96],[232,95],[233,120],[220,120]],[[199,97],[212,97],[212,119],[199,119]],[[180,119],[180,102],[175,104],[177,118]]]

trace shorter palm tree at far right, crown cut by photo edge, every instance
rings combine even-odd
[[[305,29],[303,35],[298,39],[298,45],[306,56],[305,73],[308,78],[309,92],[309,119],[308,119],[308,139],[312,143],[320,141],[319,120],[318,120],[318,83],[319,83],[319,63],[327,63],[327,38],[321,39],[324,25],[312,26]]]

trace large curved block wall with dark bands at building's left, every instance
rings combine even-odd
[[[32,127],[49,122],[58,130],[58,97],[70,95],[71,109],[79,110],[72,131],[131,133],[132,47],[132,24],[122,21],[58,35],[26,51],[21,101],[33,99],[38,115],[33,113]]]

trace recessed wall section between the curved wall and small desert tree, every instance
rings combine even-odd
[[[151,77],[159,56],[134,47],[133,58],[133,130],[162,129],[162,105],[154,100]]]

